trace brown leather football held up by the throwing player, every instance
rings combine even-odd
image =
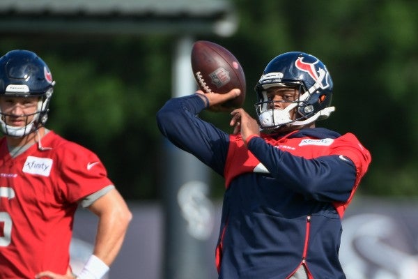
[[[221,106],[226,109],[241,107],[245,100],[245,75],[238,59],[225,47],[207,40],[198,40],[192,47],[194,79],[205,93],[227,93],[241,90],[240,96]]]

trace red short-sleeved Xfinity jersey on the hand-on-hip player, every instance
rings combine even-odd
[[[78,201],[112,185],[98,156],[49,131],[12,158],[0,140],[0,278],[64,274]]]

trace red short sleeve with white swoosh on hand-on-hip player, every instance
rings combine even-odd
[[[107,170],[102,161],[92,151],[68,142],[57,152],[56,171],[63,199],[78,202],[80,199],[113,185],[107,177]],[[61,153],[61,154],[60,154]]]

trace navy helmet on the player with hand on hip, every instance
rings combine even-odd
[[[0,57],[0,98],[4,96],[39,96],[33,121],[24,127],[9,126],[4,121],[8,114],[0,110],[3,133],[23,137],[45,125],[48,119],[49,100],[54,91],[54,80],[47,64],[29,50],[12,50]]]

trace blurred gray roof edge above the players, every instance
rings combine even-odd
[[[0,33],[56,36],[144,33],[230,36],[236,15],[227,0],[1,0]]]

